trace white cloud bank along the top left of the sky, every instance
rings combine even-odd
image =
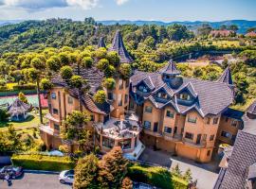
[[[98,1],[99,0],[0,0],[0,6],[33,10],[64,7],[91,9],[97,6]]]

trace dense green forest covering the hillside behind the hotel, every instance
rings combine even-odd
[[[221,26],[236,32],[237,26]],[[26,21],[20,24],[0,26],[0,91],[7,89],[7,83],[18,82],[29,85],[31,69],[46,70],[43,76],[50,78],[60,67],[83,62],[101,64],[106,60],[113,64],[116,56],[106,49],[97,49],[100,37],[110,47],[116,30],[120,30],[127,50],[134,58],[132,67],[155,72],[167,60],[192,53],[225,52],[237,59],[230,63],[236,85],[235,108],[245,110],[256,94],[256,39],[241,34],[228,37],[211,37],[208,25],[192,32],[186,26],[155,25],[112,25],[103,26],[93,18],[84,21],[49,19]],[[255,28],[250,28],[255,30]],[[115,63],[114,63],[115,64]],[[99,63],[97,64],[98,66]],[[188,63],[177,63],[184,77],[198,77],[216,80],[229,65],[224,60],[221,66],[206,65],[192,67]],[[108,66],[109,73],[115,67]],[[30,71],[30,72],[29,72]]]

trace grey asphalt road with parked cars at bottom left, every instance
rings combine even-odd
[[[71,189],[70,185],[61,184],[58,180],[58,174],[49,173],[31,173],[26,172],[24,176],[11,180],[12,185],[8,186],[7,181],[0,180],[1,189]]]

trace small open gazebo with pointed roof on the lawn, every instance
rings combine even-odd
[[[27,119],[27,112],[31,109],[31,105],[28,105],[16,98],[8,107],[10,119],[12,121],[24,121]]]

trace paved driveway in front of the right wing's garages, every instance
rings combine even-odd
[[[195,163],[192,160],[173,157],[170,153],[164,151],[154,151],[146,147],[144,152],[139,157],[140,161],[159,164],[173,168],[177,163],[180,170],[184,173],[188,168],[192,170],[193,180],[197,180],[197,187],[199,189],[212,189],[215,180],[218,177],[218,163]]]

